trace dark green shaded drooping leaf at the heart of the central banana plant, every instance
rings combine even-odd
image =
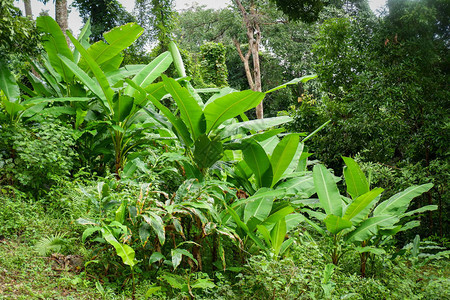
[[[194,147],[194,161],[202,170],[211,167],[223,155],[222,143],[210,140],[205,134],[195,141]]]

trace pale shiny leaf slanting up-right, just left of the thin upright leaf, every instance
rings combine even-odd
[[[172,56],[169,52],[164,52],[145,66],[139,73],[133,77],[133,82],[142,88],[149,86],[156,78],[167,70],[172,63]],[[125,94],[133,96],[133,87],[128,86],[125,89]]]

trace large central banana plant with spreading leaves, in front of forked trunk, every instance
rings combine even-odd
[[[184,65],[175,43],[172,42],[169,49],[179,75],[182,78],[185,77]],[[177,136],[185,147],[187,156],[192,160],[195,169],[192,174],[198,179],[202,179],[208,169],[224,156],[226,150],[224,143],[230,141],[233,136],[242,131],[247,134],[291,121],[289,117],[258,121],[246,119],[244,113],[256,107],[263,100],[265,93],[251,90],[238,92],[224,88],[218,90],[206,103],[203,103],[189,82],[185,80],[177,82],[165,76],[162,78],[162,83],[155,85],[152,90],[165,91],[170,94],[177,105],[177,111],[172,112],[156,97],[148,94],[148,98],[160,111],[163,118],[154,111],[147,110],[147,112]],[[305,76],[287,84],[306,82],[312,78],[314,76]],[[147,89],[147,91],[149,90]],[[235,118],[238,116],[244,121],[237,122]]]

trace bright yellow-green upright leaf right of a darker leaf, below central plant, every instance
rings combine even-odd
[[[289,134],[285,136],[281,142],[275,147],[270,158],[270,163],[272,165],[273,187],[278,180],[283,176],[287,167],[291,164],[295,154],[297,153],[297,148],[299,146],[298,134]]]

